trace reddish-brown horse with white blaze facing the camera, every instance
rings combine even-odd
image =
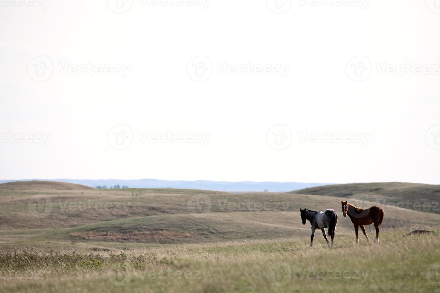
[[[368,238],[364,227],[364,225],[368,226],[371,224],[374,224],[374,228],[376,228],[376,239],[374,239],[374,243],[379,243],[379,227],[381,226],[382,221],[384,219],[384,215],[385,215],[384,210],[379,206],[372,206],[364,210],[347,203],[347,201],[341,201],[341,205],[342,205],[342,213],[344,214],[344,217],[346,217],[348,214],[348,217],[350,217],[350,220],[352,220],[352,223],[355,226],[356,244],[359,243],[359,239],[358,239],[359,227],[362,229],[363,235],[367,237],[368,243],[371,243],[370,238]]]

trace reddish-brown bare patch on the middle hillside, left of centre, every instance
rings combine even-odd
[[[70,233],[73,237],[81,240],[92,241],[118,241],[118,242],[148,242],[151,240],[169,240],[191,237],[187,232],[159,231],[136,231],[136,232],[76,232]]]

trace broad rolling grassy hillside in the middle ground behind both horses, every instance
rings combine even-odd
[[[4,240],[0,247],[39,245],[87,250],[98,243],[119,247],[306,236],[310,234],[310,224],[301,223],[300,208],[334,209],[340,215],[337,234],[353,234],[351,221],[341,215],[337,192],[313,195],[170,188],[3,190],[0,236]],[[375,204],[355,198],[350,198],[350,202],[356,206]],[[383,207],[384,229],[429,228],[440,223],[436,213]],[[367,229],[372,233],[372,227]]]

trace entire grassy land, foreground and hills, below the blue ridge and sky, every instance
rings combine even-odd
[[[341,199],[362,206],[412,194],[434,206],[440,187],[420,185],[234,194],[0,184],[0,291],[440,292],[435,210],[381,205],[380,244],[360,233],[357,247],[341,215]],[[309,247],[304,207],[339,213],[334,250],[319,231]],[[405,236],[419,228],[433,233]],[[374,238],[371,226],[367,233]]]

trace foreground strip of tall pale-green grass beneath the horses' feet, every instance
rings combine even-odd
[[[407,232],[391,229],[379,245],[361,239],[357,247],[354,235],[339,235],[334,250],[322,238],[310,248],[299,237],[128,252],[7,252],[0,254],[0,280],[3,292],[436,292],[425,272],[440,260],[439,231],[403,237]]]

